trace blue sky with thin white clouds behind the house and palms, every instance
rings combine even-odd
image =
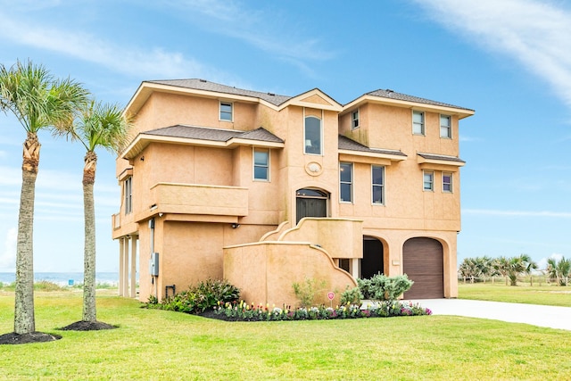
[[[571,257],[571,5],[539,0],[0,0],[0,62],[31,59],[128,103],[143,80],[201,78],[346,104],[394,91],[476,110],[460,122],[459,261]],[[13,271],[19,123],[0,115],[0,271]],[[36,271],[83,270],[80,145],[42,143]],[[114,157],[95,180],[97,270],[116,271]]]

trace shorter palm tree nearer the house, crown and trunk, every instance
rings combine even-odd
[[[117,104],[101,104],[91,101],[81,110],[72,128],[62,134],[77,139],[85,146],[87,153],[83,167],[83,203],[85,219],[83,318],[78,329],[101,329],[104,323],[97,323],[95,309],[95,206],[93,189],[97,155],[95,149],[103,147],[112,153],[119,153],[127,142],[128,129],[132,120],[123,116]],[[80,323],[80,322],[78,322]],[[69,329],[73,329],[71,325]],[[108,326],[107,328],[111,328]]]

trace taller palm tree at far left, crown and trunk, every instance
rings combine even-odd
[[[40,144],[37,132],[65,128],[87,101],[88,92],[72,79],[54,79],[41,65],[16,62],[0,67],[0,99],[26,130],[22,160],[20,216],[16,248],[14,334],[32,334],[34,318],[33,223]]]

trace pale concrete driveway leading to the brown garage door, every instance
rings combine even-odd
[[[418,302],[421,306],[429,308],[434,315],[494,319],[571,331],[571,307],[468,301],[465,299],[422,299],[412,302]]]

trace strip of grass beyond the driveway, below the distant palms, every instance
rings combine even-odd
[[[545,286],[545,283],[542,285],[529,286],[527,283],[506,286],[503,282],[466,285],[459,283],[458,291],[460,299],[571,307],[571,286]]]

